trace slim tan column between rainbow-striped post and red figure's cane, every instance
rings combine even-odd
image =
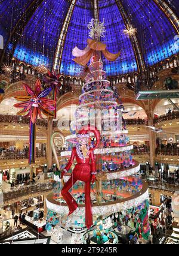
[[[51,149],[51,135],[53,134],[53,118],[48,118],[48,127],[47,127],[47,165],[48,168],[51,168],[52,165],[52,149]]]

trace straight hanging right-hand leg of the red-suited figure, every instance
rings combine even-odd
[[[92,208],[91,208],[91,180],[85,182],[85,225],[90,228],[92,225]]]

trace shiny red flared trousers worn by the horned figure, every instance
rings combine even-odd
[[[85,182],[85,225],[92,225],[92,209],[91,209],[91,167],[90,164],[76,164],[72,176],[61,190],[61,195],[69,206],[69,210],[76,210],[78,204],[70,194],[69,190],[77,182],[77,180]]]

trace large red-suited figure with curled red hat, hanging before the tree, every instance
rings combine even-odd
[[[90,138],[88,131],[94,132],[96,137],[97,142],[93,148],[91,148],[88,144],[88,140]],[[95,127],[88,125],[83,127],[83,129],[79,131],[76,137],[78,139],[78,144],[73,147],[72,155],[70,156],[69,162],[61,173],[61,176],[63,177],[63,175],[67,173],[73,164],[74,158],[76,158],[77,164],[75,165],[70,179],[61,190],[61,195],[69,206],[69,215],[72,214],[78,207],[78,204],[69,193],[69,189],[72,188],[77,180],[85,182],[85,225],[87,225],[87,228],[89,229],[92,225],[92,209],[90,197],[91,183],[95,182],[96,174],[94,149],[100,143],[100,132]]]

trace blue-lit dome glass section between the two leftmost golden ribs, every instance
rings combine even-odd
[[[69,1],[66,0],[42,2],[27,23],[23,37],[19,40],[22,43],[18,43],[14,57],[32,65],[38,65],[48,60],[48,66],[52,67],[58,37],[68,8]],[[44,17],[46,18],[45,32]],[[42,56],[43,52],[44,56]]]

